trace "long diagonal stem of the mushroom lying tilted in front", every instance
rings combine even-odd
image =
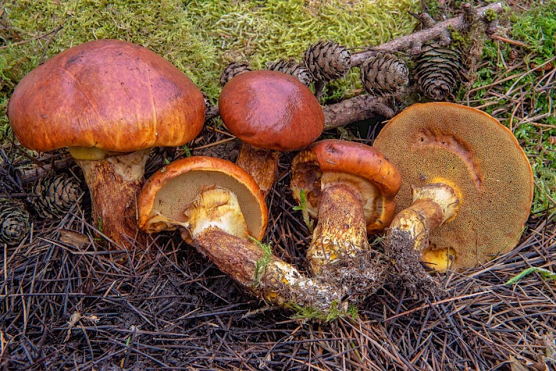
[[[279,306],[311,306],[325,312],[341,303],[341,289],[304,277],[270,247],[249,238],[238,199],[230,190],[205,188],[184,215],[182,238],[257,297]]]

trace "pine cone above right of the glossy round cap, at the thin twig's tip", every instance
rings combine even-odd
[[[350,70],[352,56],[345,47],[333,41],[319,41],[304,53],[303,62],[315,81],[339,79]]]

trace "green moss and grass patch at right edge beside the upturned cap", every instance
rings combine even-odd
[[[523,99],[525,109],[534,110],[529,113],[530,117],[546,115],[542,119],[535,120],[540,125],[524,123],[515,127],[516,120],[512,122],[514,135],[528,155],[534,173],[533,213],[543,213],[554,208],[553,200],[556,199],[556,145],[551,145],[549,142],[550,136],[556,136],[556,118],[554,115],[548,115],[554,112],[553,102],[556,101],[556,90],[541,91],[536,88],[543,76],[550,71],[530,72],[535,65],[540,65],[555,55],[555,9],[556,0],[549,0],[542,1],[539,6],[523,14],[512,14],[509,38],[525,42],[528,47],[520,48],[513,44],[496,43],[487,39],[482,51],[482,60],[486,63],[483,63],[483,67],[477,71],[477,81],[473,84],[473,88],[477,88],[477,91],[472,97],[477,99],[477,105],[489,104],[482,108],[489,114],[507,112],[503,116],[496,115],[506,126],[509,126],[511,113],[515,109],[515,99],[518,99],[516,94],[521,94],[519,100]],[[507,64],[512,60],[511,53],[516,51],[525,53],[523,57],[525,66],[512,70],[511,74],[515,75],[513,79],[496,84],[496,90],[504,94],[500,94],[500,97],[493,101],[493,96],[489,94],[487,88],[482,87],[508,76],[503,72],[507,70]],[[516,87],[521,87],[518,93],[511,92],[509,96],[505,94]]]

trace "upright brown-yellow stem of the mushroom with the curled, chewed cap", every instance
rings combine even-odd
[[[328,184],[320,197],[318,222],[307,260],[313,274],[346,256],[368,250],[366,220],[359,192],[345,183]]]

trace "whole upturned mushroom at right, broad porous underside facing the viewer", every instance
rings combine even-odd
[[[373,147],[398,166],[403,181],[387,254],[456,270],[516,246],[533,176],[523,149],[497,119],[459,104],[414,104],[384,126]]]

